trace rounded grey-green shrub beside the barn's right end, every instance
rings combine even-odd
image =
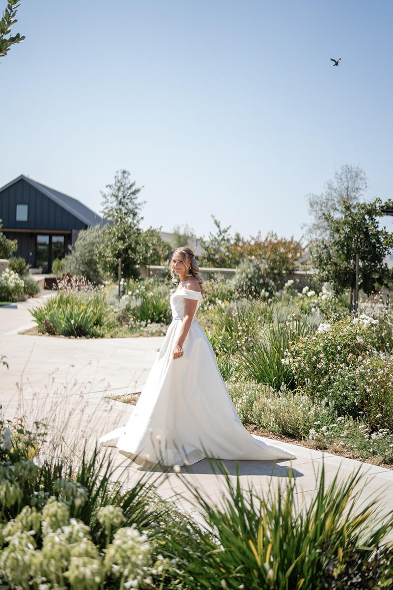
[[[87,278],[91,283],[100,283],[103,277],[99,265],[99,251],[103,239],[104,229],[98,225],[80,231],[71,253],[62,261],[54,261],[54,273],[58,274],[61,270],[60,276],[64,271],[68,271],[78,277]]]

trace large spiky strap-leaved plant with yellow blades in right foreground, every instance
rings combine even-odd
[[[376,501],[359,506],[359,470],[345,481],[336,474],[328,486],[322,467],[306,506],[292,473],[285,483],[272,477],[269,491],[259,496],[242,489],[239,477],[233,481],[220,463],[218,471],[226,482],[220,506],[212,506],[189,486],[206,528],[190,523],[181,527],[180,539],[173,530],[167,532],[164,552],[178,560],[181,588],[320,590],[329,575],[334,579],[329,574],[333,560],[341,564],[341,572],[347,567],[351,572],[348,562],[356,553],[361,556],[359,569],[366,569],[392,529],[389,517],[384,520],[376,513]],[[383,569],[381,577],[391,579],[391,570]]]

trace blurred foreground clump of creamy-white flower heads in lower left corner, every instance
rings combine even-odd
[[[147,479],[128,490],[112,483],[112,461],[97,449],[77,465],[41,463],[35,454],[47,425],[11,428],[1,424],[1,578],[12,588],[115,590],[119,576],[126,587],[141,586],[153,564],[138,529],[153,527],[152,504],[162,519]]]

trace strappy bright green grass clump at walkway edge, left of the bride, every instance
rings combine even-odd
[[[30,310],[42,333],[62,336],[98,336],[108,317],[108,307],[101,293],[78,293],[61,290],[44,306]]]

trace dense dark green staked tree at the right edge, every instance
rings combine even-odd
[[[336,293],[355,289],[356,254],[360,261],[359,287],[366,295],[392,281],[392,271],[384,258],[392,251],[393,234],[379,227],[378,221],[384,208],[392,208],[392,202],[344,201],[339,217],[323,213],[329,232],[325,239],[316,242],[312,261],[319,280],[332,283]]]

